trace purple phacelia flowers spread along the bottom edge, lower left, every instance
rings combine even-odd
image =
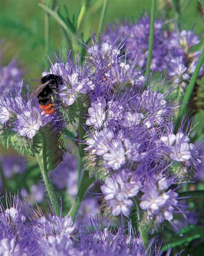
[[[74,228],[69,215],[43,215],[39,208],[35,211],[19,197],[9,199],[10,196],[6,196],[6,208],[0,205],[1,255],[149,255],[131,224],[127,234],[122,227],[115,232],[111,222],[104,227],[97,217],[91,219],[91,225],[86,223],[86,226]],[[88,225],[92,228],[88,229]],[[163,255],[160,249],[154,248],[153,242],[149,245],[152,246],[151,256]]]

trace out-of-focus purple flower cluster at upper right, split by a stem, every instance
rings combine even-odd
[[[154,45],[151,60],[152,72],[164,72],[175,88],[174,98],[180,100],[189,83],[190,77],[200,57],[201,51],[193,51],[192,47],[200,43],[199,36],[192,30],[170,29],[162,20],[155,20]],[[142,70],[146,68],[149,46],[150,18],[142,17],[137,23],[122,21],[121,24],[109,25],[106,33],[102,34],[102,45],[108,49],[115,43],[120,43],[124,37],[123,50],[130,51],[127,58],[132,61],[137,57],[137,65]],[[199,77],[204,73],[200,69]]]

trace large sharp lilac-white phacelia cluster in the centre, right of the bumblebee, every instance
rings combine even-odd
[[[167,101],[170,91],[163,94],[160,90],[165,82],[159,81],[155,89],[158,81],[138,79],[137,64],[128,64],[128,53],[114,51],[114,55],[110,50],[104,54],[104,45],[93,43],[89,56],[92,70],[99,65],[102,68],[96,71],[95,88],[88,93],[85,168],[93,167],[91,173],[104,181],[101,190],[106,213],[129,217],[135,197],[142,201],[148,222],[171,221],[178,205],[177,193],[171,190],[177,183],[172,175],[190,177],[200,163],[199,154],[182,128],[176,135],[172,132],[173,106]],[[99,49],[98,54],[93,54],[94,49]],[[112,68],[122,70],[122,79]],[[147,179],[151,175],[169,181],[168,186],[157,188]],[[151,200],[155,200],[155,208]]]

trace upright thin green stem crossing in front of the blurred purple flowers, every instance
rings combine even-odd
[[[150,65],[152,58],[152,49],[153,49],[153,40],[154,40],[154,20],[155,20],[155,7],[156,0],[152,0],[151,3],[151,20],[150,20],[150,34],[149,34],[149,48],[148,48],[148,56],[146,61],[146,71],[145,76],[149,76],[150,73]]]

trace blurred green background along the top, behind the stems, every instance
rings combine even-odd
[[[29,79],[38,79],[42,68],[34,61],[45,66],[44,57],[47,56],[44,46],[44,10],[38,6],[43,0],[0,0],[0,38],[3,40],[2,66],[16,57],[21,61],[25,70],[25,80],[31,86],[36,83]],[[89,37],[90,31],[97,32],[103,0],[90,0],[86,10],[81,31],[84,39]],[[56,5],[64,11],[67,6],[69,16],[77,13],[81,0],[58,0]],[[199,13],[198,0],[180,0],[182,7],[178,25],[190,29],[194,26],[197,34],[201,34],[203,26],[202,16]],[[144,13],[150,13],[151,0],[109,0],[104,29],[108,23],[122,18],[136,19]],[[156,18],[175,18],[175,9],[171,0],[158,0],[156,5]],[[191,17],[191,18],[189,18]],[[70,45],[64,40],[62,29],[51,17],[51,39],[49,49],[60,50],[60,47]],[[6,52],[5,52],[6,51]]]

